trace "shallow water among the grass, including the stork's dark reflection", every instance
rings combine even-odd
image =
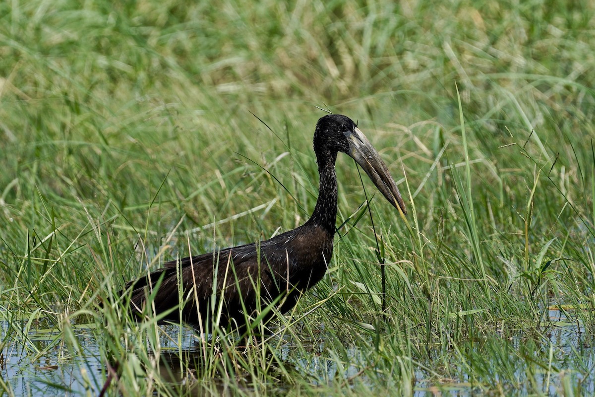
[[[595,382],[591,376],[592,368],[595,367],[593,341],[585,340],[582,325],[575,320],[568,320],[562,311],[552,308],[549,316],[551,323],[544,326],[545,332],[540,335],[519,334],[508,339],[489,337],[486,340],[465,342],[446,354],[444,348],[439,347],[430,351],[430,357],[452,354],[452,362],[434,362],[427,357],[414,358],[417,362],[414,370],[414,395],[442,392],[469,396],[477,391],[490,390],[493,387],[491,385],[500,385],[505,393],[514,390],[524,394],[540,389],[546,394],[556,395],[562,390],[560,385],[563,382],[580,385],[584,394],[594,394]],[[97,331],[92,327],[76,327],[76,337],[84,349],[80,355],[71,356],[64,343],[58,339],[59,330],[51,323],[37,323],[37,329],[27,335],[26,341],[15,337],[12,332],[8,335],[7,321],[0,320],[0,326],[3,345],[0,351],[0,375],[12,394],[97,395],[104,386],[107,370],[100,357],[101,349],[105,349],[105,346],[101,345],[101,340],[96,340]],[[249,371],[242,370],[240,365],[235,369],[219,368],[218,370],[226,371],[220,376],[217,370],[209,368],[212,376],[205,383],[202,372],[205,368],[205,355],[196,333],[171,325],[163,326],[162,330],[165,337],[161,339],[159,359],[155,360],[158,363],[156,369],[173,387],[182,387],[185,394],[231,395],[242,387],[238,385],[259,382],[258,379],[250,379]],[[333,339],[333,336],[325,335],[324,329],[312,340],[303,339],[300,332],[297,335],[300,335],[299,343],[287,335],[277,335],[274,336],[276,339],[270,340],[272,346],[277,346],[274,354],[283,368],[280,370],[272,364],[267,368],[266,379],[274,383],[268,392],[286,393],[284,380],[287,376],[299,377],[321,386],[330,385],[338,376],[345,380],[346,385],[353,379],[363,383],[370,380],[367,377],[371,374],[368,371],[368,351],[362,351],[353,346],[352,342],[345,341],[346,353],[340,360],[342,365],[338,366],[339,361],[329,357],[328,353],[333,348],[328,340]],[[220,349],[220,354],[232,354],[221,346]],[[234,360],[241,360],[241,349],[233,352],[237,355]],[[36,351],[43,354],[36,354]],[[267,354],[272,355],[273,352],[269,351]],[[267,357],[263,360],[275,363],[275,360]],[[469,368],[465,366],[465,362],[473,366],[474,376],[469,376]],[[444,365],[450,367],[440,370],[440,366]],[[231,373],[233,370],[237,372]],[[254,372],[258,371],[261,369]],[[444,375],[437,376],[437,373]],[[388,380],[391,374],[384,376]],[[230,389],[229,377],[237,378],[233,389]],[[528,379],[537,382],[537,385],[525,385]],[[374,384],[371,382],[371,386]]]

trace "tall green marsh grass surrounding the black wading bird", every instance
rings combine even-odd
[[[0,395],[96,394],[115,361],[121,395],[593,393],[593,4],[214,4],[0,4]],[[359,120],[406,221],[364,176],[372,230],[340,156],[333,261],[278,335],[99,307],[302,224],[315,105]]]

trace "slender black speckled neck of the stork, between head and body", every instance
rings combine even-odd
[[[337,174],[334,168],[337,152],[317,153],[316,157],[320,174],[320,188],[318,189],[316,207],[308,222],[323,227],[332,236],[337,220]]]

